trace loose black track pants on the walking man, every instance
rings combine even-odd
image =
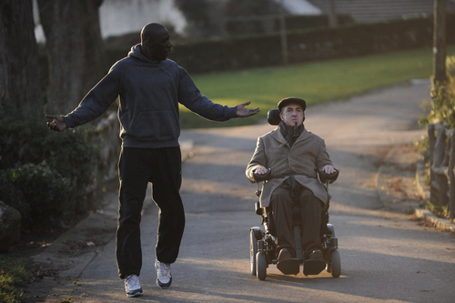
[[[140,275],[142,248],[141,211],[152,183],[159,207],[157,259],[174,263],[185,227],[185,211],[179,194],[182,183],[180,147],[122,148],[118,162],[120,179],[116,260],[120,278]]]

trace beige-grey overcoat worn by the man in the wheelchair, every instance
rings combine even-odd
[[[304,129],[296,142],[289,146],[281,134],[279,126],[264,136],[258,137],[258,145],[247,167],[247,177],[255,182],[253,172],[258,166],[271,169],[269,181],[264,182],[260,207],[268,207],[272,192],[288,177],[294,175],[302,187],[307,187],[313,194],[326,204],[329,194],[319,182],[316,170],[332,165],[324,139]]]

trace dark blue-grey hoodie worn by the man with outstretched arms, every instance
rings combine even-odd
[[[178,103],[209,120],[227,121],[236,107],[221,106],[200,93],[187,71],[172,60],[150,61],[141,45],[131,48],[64,116],[66,126],[76,127],[101,116],[120,96],[118,119],[124,147],[162,148],[178,145]]]

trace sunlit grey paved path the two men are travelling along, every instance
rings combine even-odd
[[[195,143],[183,166],[181,190],[187,227],[173,285],[159,289],[153,268],[157,209],[147,207],[142,223],[146,302],[453,302],[455,238],[420,227],[409,216],[384,210],[377,190],[378,165],[392,146],[413,142],[429,83],[403,84],[349,102],[307,109],[305,125],[326,139],[339,181],[330,223],[339,237],[341,277],[284,276],[275,266],[259,281],[249,273],[248,231],[260,225],[254,214],[256,186],[245,177],[258,136],[267,124],[185,131]],[[262,113],[263,115],[265,113]],[[121,302],[115,240],[88,262],[73,287],[72,302]],[[57,289],[57,288],[56,288]],[[55,290],[56,292],[58,290]],[[56,299],[58,295],[55,296]],[[132,300],[132,299],[130,299]],[[52,296],[46,302],[53,302]]]

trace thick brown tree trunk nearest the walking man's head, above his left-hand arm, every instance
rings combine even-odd
[[[102,3],[38,0],[49,57],[49,113],[73,110],[105,74],[98,14]]]

